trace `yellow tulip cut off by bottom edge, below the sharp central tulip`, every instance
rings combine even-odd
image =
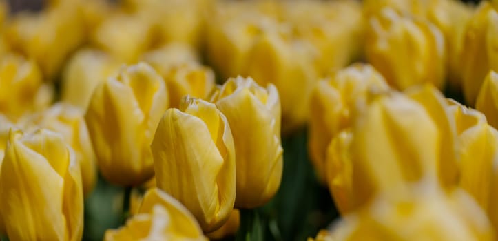
[[[207,240],[194,216],[172,196],[150,189],[140,210],[124,227],[105,232],[105,241]]]

